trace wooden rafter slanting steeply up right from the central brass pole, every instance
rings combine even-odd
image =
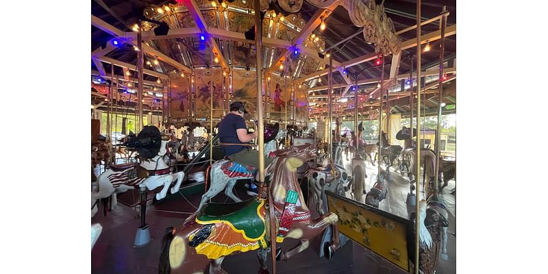
[[[321,9],[316,10],[316,12],[314,12],[314,14],[310,18],[310,20],[308,20],[306,25],[303,27],[303,29],[301,29],[301,32],[299,32],[299,34],[297,34],[297,36],[295,36],[295,38],[293,38],[291,40],[291,45],[290,46],[291,47],[299,47],[303,43],[303,41],[310,34],[312,34],[312,32],[314,32],[314,29],[316,29],[316,27],[318,27],[322,23],[322,21],[325,20],[327,18],[327,16],[329,16],[335,10],[335,8],[338,7],[339,4],[340,4],[340,0],[336,0],[331,5],[329,5],[327,8],[321,8]],[[303,48],[303,49],[300,49],[300,50],[301,51],[306,51],[307,49]],[[289,53],[290,53],[290,50],[285,49],[284,52],[282,53],[282,55],[275,62],[273,62],[272,66],[270,66],[268,69],[266,69],[266,71],[264,71],[264,74],[269,75],[269,74],[273,73],[273,71],[277,68],[277,66],[279,66],[280,64],[282,64],[286,60],[287,55]],[[317,53],[316,53],[316,55],[317,55]],[[313,56],[314,56],[314,54],[312,54],[312,57]],[[320,58],[319,56],[316,56],[316,57],[323,60],[323,62],[329,62],[329,60],[327,58]]]

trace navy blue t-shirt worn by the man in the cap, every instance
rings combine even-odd
[[[245,142],[240,142],[240,139],[238,139],[236,129],[247,129],[245,120],[242,116],[229,113],[225,116],[223,121],[219,123],[219,141],[230,144],[245,144]],[[245,149],[245,147],[237,145],[223,146],[223,153],[229,156],[242,151],[242,149]]]

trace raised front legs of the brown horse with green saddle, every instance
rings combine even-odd
[[[332,225],[338,222],[337,214],[329,212],[321,218],[308,222],[297,222],[291,225],[291,229],[286,235],[286,238],[299,239],[301,242],[289,251],[282,252],[280,255],[281,260],[289,260],[297,253],[308,248],[310,239],[318,236],[327,225]]]

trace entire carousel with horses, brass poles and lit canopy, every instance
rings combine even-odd
[[[91,15],[92,273],[456,273],[455,1]]]

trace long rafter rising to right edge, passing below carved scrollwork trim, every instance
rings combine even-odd
[[[445,37],[451,36],[457,34],[457,25],[450,25],[445,29]],[[441,38],[441,31],[437,30],[435,32],[430,32],[429,34],[425,34],[421,36],[421,45],[425,44],[427,41],[433,42],[435,40],[439,40]],[[412,38],[409,40],[406,40],[401,43],[401,50],[411,49],[413,47],[416,47],[416,38]],[[356,66],[358,64],[362,64],[363,62],[369,62],[375,58],[377,58],[378,53],[367,53],[366,55],[362,55],[358,58],[354,58],[352,60],[349,60],[347,62],[343,62],[340,64],[343,69],[347,69],[351,66]],[[329,73],[329,69],[324,69],[322,71],[316,71],[315,73],[310,73],[309,75],[304,75],[297,79],[298,82],[306,82],[310,79],[314,79],[316,77],[320,77],[323,75],[326,75]]]

